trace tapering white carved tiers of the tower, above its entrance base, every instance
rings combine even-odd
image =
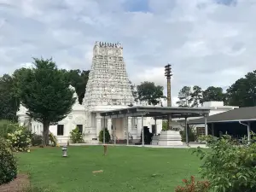
[[[96,106],[127,106],[134,102],[121,44],[96,42],[84,96],[91,111]]]

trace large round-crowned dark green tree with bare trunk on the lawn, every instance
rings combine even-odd
[[[27,115],[44,125],[43,145],[49,144],[49,125],[55,125],[72,111],[76,98],[69,89],[67,73],[52,59],[34,58],[34,67],[20,78],[20,100]]]

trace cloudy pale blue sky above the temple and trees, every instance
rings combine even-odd
[[[133,84],[227,88],[255,70],[256,0],[0,0],[0,75],[32,57],[89,70],[96,41],[120,42]]]

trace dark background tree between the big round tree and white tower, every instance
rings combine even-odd
[[[90,71],[80,71],[79,69],[76,69],[70,70],[68,73],[70,84],[75,88],[76,93],[79,96],[79,103],[82,104]]]

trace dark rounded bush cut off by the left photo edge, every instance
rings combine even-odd
[[[15,157],[9,143],[0,137],[0,185],[9,183],[17,176]]]

